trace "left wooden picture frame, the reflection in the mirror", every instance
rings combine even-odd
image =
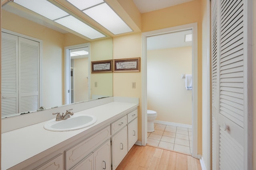
[[[112,60],[92,61],[91,70],[92,73],[113,72]]]

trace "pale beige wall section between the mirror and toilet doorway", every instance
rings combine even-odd
[[[141,33],[113,38],[113,59],[141,57]],[[136,88],[132,88],[136,82]],[[141,141],[141,72],[114,72],[113,95],[139,98],[138,140]]]

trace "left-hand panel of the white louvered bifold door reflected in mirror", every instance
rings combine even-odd
[[[18,113],[18,37],[2,33],[2,117]]]

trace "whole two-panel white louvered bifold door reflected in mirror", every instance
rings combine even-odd
[[[38,109],[39,43],[2,32],[2,117]]]

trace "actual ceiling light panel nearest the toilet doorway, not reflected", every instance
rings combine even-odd
[[[94,6],[83,12],[115,35],[132,31],[106,3]]]

